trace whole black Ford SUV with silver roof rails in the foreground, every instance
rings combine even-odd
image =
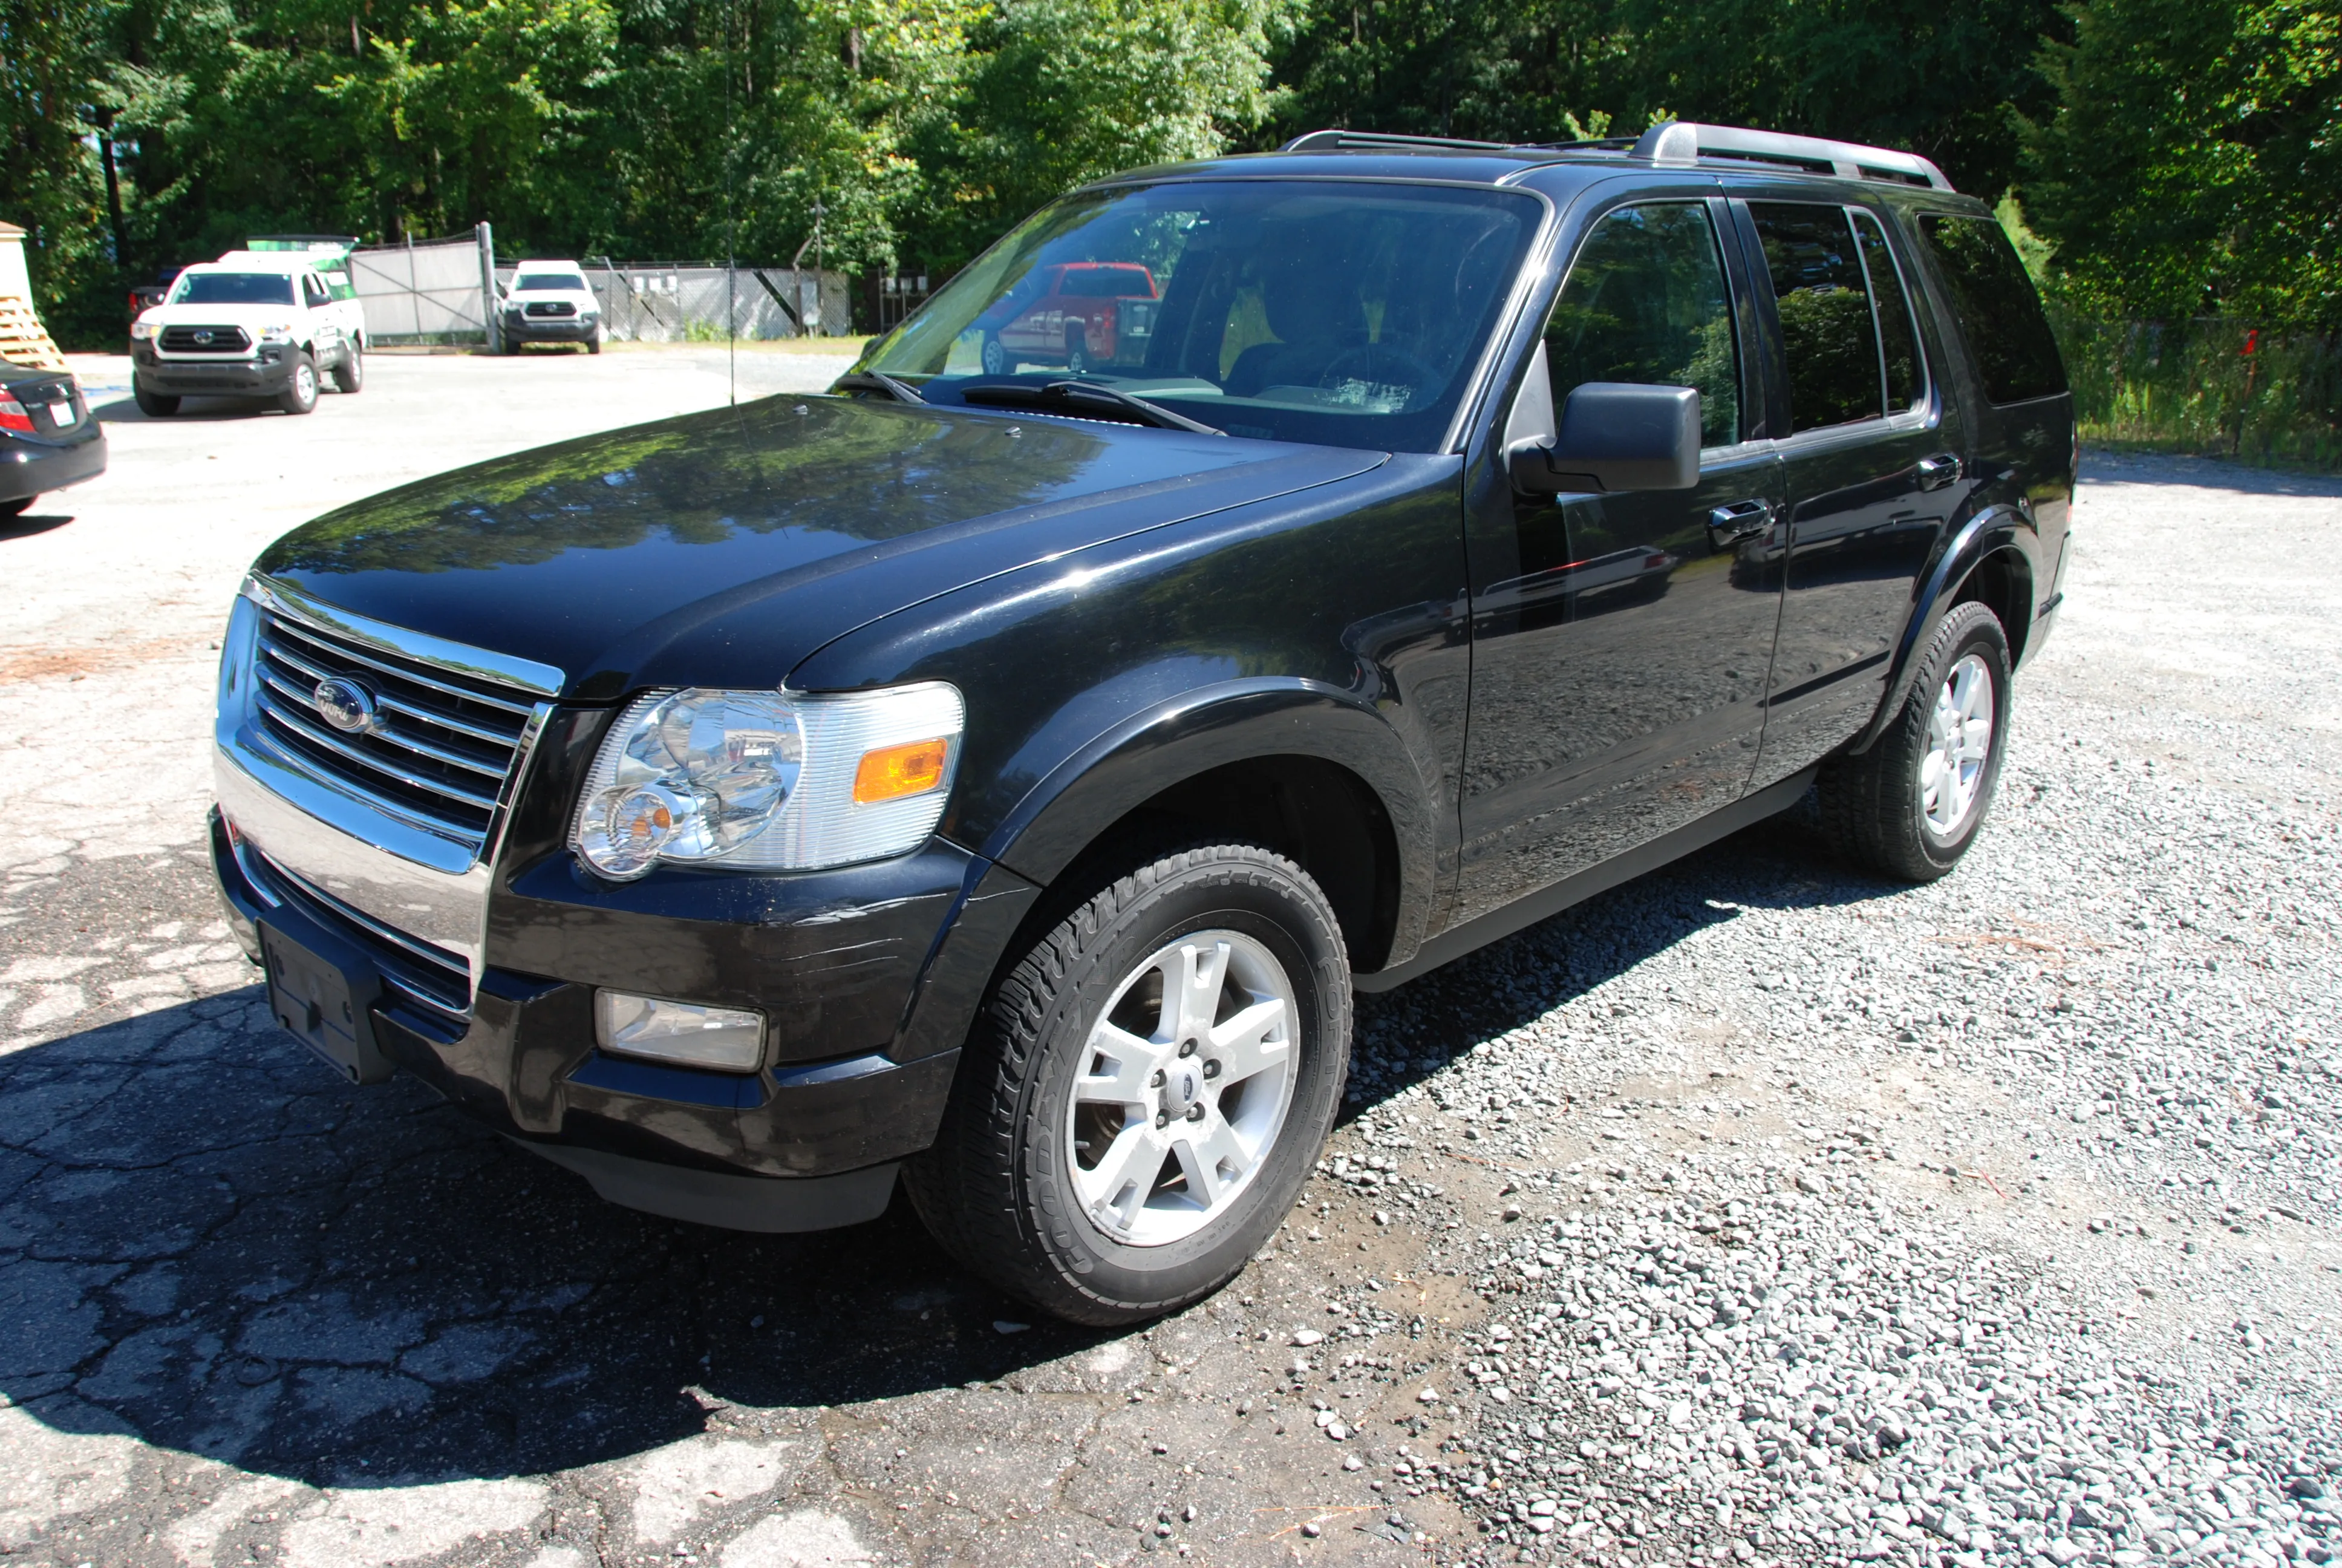
[[[1101,265],[1155,281],[1131,319],[993,338]],[[1286,1216],[1354,991],[1808,788],[1949,872],[2075,471],[1981,204],[1693,124],[1101,180],[836,391],[274,544],[220,886],[349,1078],[717,1226],[902,1177],[1096,1324]]]

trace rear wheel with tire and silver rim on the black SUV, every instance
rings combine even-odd
[[[1979,713],[1984,703],[1988,715]],[[1953,715],[1965,715],[1958,736],[1949,734]],[[1888,731],[1867,752],[1822,764],[1822,832],[1841,855],[1874,872],[1906,881],[1944,877],[1984,827],[2007,734],[2007,633],[1984,605],[1953,605]]]

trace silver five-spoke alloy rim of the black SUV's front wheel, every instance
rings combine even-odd
[[[1101,1233],[1166,1247],[1204,1230],[1267,1165],[1293,1109],[1300,1008],[1241,930],[1148,954],[1082,1043],[1066,1177]]]

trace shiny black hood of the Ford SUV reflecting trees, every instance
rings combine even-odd
[[[583,701],[775,687],[824,642],[923,598],[1382,462],[785,394],[389,490],[286,534],[255,570],[550,663]]]

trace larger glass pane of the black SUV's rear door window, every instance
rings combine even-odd
[[[1789,370],[1789,429],[1810,431],[1885,413],[1878,323],[1843,206],[1752,202],[1780,312]]]

